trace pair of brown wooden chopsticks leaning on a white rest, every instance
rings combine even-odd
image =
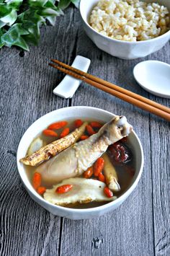
[[[93,87],[97,87],[98,89],[102,89],[104,92],[108,92],[109,94],[114,95],[115,97],[124,100],[125,102],[129,102],[137,107],[140,107],[143,110],[151,112],[155,115],[160,116],[166,120],[170,121],[170,108],[165,107],[164,105],[153,102],[152,100],[148,100],[146,97],[135,94],[134,92],[130,92],[127,89],[122,87],[118,87],[115,84],[109,83],[109,81],[105,81],[100,79],[97,76],[93,76],[79,69],[75,69],[72,66],[69,66],[61,61],[52,59],[54,63],[49,63],[53,68],[62,71],[69,76],[73,76],[76,79],[85,81],[87,84],[91,84]]]

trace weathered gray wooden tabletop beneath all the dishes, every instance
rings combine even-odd
[[[73,7],[58,17],[55,27],[42,27],[41,32],[40,45],[24,56],[16,48],[0,52],[0,255],[170,255],[169,123],[87,84],[70,100],[56,97],[53,89],[64,75],[48,66],[50,58],[71,64],[76,55],[85,56],[91,59],[89,73],[169,107],[170,100],[139,87],[133,67],[148,59],[170,63],[170,44],[146,58],[114,58],[89,40]],[[53,216],[30,198],[17,172],[17,146],[24,131],[40,116],[75,105],[127,116],[145,150],[135,191],[99,219]]]

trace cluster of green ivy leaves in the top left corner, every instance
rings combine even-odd
[[[28,44],[37,45],[40,27],[46,20],[55,25],[56,17],[71,3],[78,6],[79,0],[0,0],[0,48],[17,45],[29,50]]]

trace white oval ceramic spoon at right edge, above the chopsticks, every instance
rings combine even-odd
[[[170,98],[170,65],[161,61],[143,61],[133,69],[135,80],[146,91]]]

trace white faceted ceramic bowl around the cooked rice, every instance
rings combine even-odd
[[[163,4],[169,9],[169,0],[145,0],[146,2],[157,2]],[[98,0],[81,0],[79,9],[83,21],[84,30],[97,47],[105,52],[116,56],[118,58],[134,59],[148,56],[156,50],[161,49],[170,39],[170,30],[164,35],[146,41],[126,42],[122,40],[115,40],[110,37],[104,36],[94,30],[89,25],[89,16],[91,10],[97,4]]]

